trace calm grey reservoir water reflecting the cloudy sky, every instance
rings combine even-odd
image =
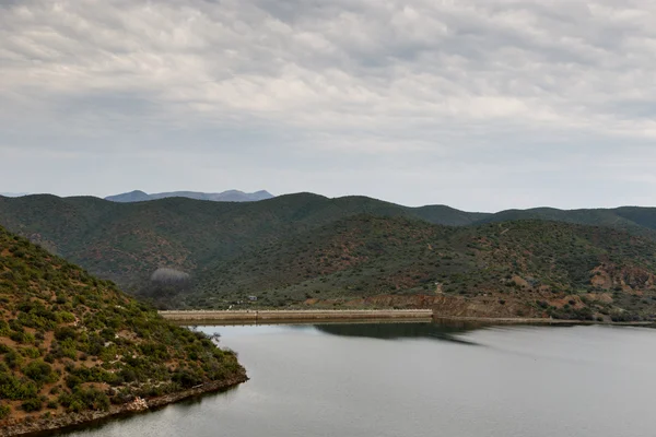
[[[198,327],[250,380],[75,437],[656,435],[656,330]]]

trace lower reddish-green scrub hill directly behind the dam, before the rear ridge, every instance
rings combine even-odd
[[[520,221],[456,228],[356,216],[216,263],[176,305],[224,308],[250,295],[262,306],[316,305],[441,292],[536,304],[540,296],[607,293],[613,304],[595,311],[648,317],[656,312],[655,255],[652,239],[607,227]],[[549,308],[557,316],[569,309]]]

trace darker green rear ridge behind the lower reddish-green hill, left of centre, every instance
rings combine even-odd
[[[363,197],[311,193],[253,203],[169,198],[115,203],[96,198],[0,198],[0,224],[90,272],[137,293],[161,267],[194,273],[337,220],[368,213],[466,225],[484,216],[447,206],[406,208]]]

